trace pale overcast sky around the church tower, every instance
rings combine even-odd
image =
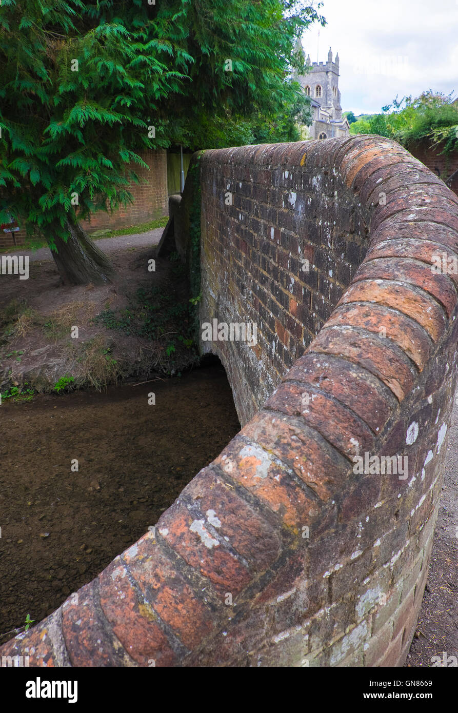
[[[320,14],[327,25],[302,46],[312,62],[338,51],[343,111],[380,113],[429,88],[458,94],[458,0],[323,0]]]

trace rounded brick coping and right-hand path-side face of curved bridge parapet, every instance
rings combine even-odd
[[[457,380],[458,277],[431,265],[437,253],[458,259],[458,198],[374,136],[210,150],[201,161],[333,176],[365,216],[367,253],[305,354],[156,529],[0,656],[402,665]],[[304,389],[316,396],[306,421]],[[355,440],[362,452],[408,455],[408,478],[355,475]]]

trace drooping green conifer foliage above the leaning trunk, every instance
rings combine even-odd
[[[0,222],[56,247],[66,220],[131,202],[147,148],[250,143],[260,117],[289,138],[312,21],[308,0],[3,0]]]

